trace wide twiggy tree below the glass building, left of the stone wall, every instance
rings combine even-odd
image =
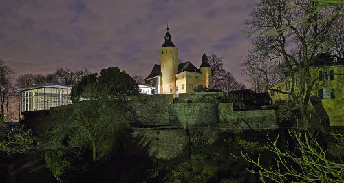
[[[129,127],[125,106],[118,100],[87,100],[56,107],[46,122],[50,148],[83,147],[92,160],[116,151],[123,131]]]

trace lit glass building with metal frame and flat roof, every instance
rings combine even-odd
[[[50,110],[51,107],[72,104],[70,100],[72,85],[43,83],[14,89],[14,91],[21,92],[22,113]]]

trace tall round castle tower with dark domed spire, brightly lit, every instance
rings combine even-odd
[[[160,52],[160,65],[162,73],[162,94],[173,94],[175,97],[175,74],[178,72],[178,48],[172,43],[172,36],[167,27]]]

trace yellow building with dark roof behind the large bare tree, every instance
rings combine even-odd
[[[310,108],[321,117],[323,124],[344,126],[344,59],[329,54],[319,54],[310,67],[313,82],[310,92]],[[292,83],[294,79],[294,83]],[[294,86],[292,86],[294,85]],[[301,90],[301,72],[295,71],[291,76],[279,80],[272,89],[291,92],[294,87],[295,96]],[[290,94],[268,91],[272,103],[288,103],[293,98]]]

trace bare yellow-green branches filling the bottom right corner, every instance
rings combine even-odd
[[[344,163],[341,158],[330,159],[330,155],[319,143],[316,135],[310,131],[292,130],[289,130],[289,134],[296,145],[294,148],[287,146],[286,151],[278,147],[278,137],[272,141],[268,136],[269,144],[264,147],[275,154],[276,166],[262,166],[259,162],[260,155],[255,161],[241,151],[241,158],[259,168],[248,171],[259,173],[263,182],[264,177],[275,182],[344,182]],[[344,149],[344,136],[341,133],[331,133],[331,135],[341,149]]]

